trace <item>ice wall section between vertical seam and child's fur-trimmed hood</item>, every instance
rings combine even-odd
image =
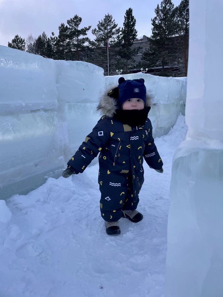
[[[63,156],[69,160],[100,116],[96,105],[100,90],[104,89],[103,69],[81,61],[55,61],[60,122],[63,122]],[[65,141],[65,135],[67,135]],[[67,161],[66,161],[67,162]],[[92,164],[97,162],[95,159]]]

